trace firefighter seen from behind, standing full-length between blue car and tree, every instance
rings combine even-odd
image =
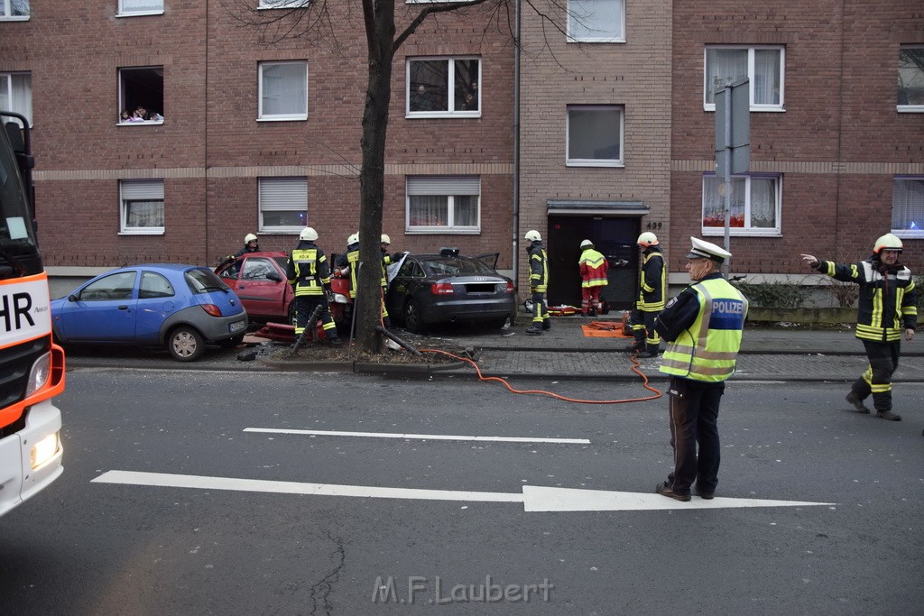
[[[322,307],[321,322],[324,335],[331,344],[340,344],[337,328],[327,308],[327,293],[331,290],[331,272],[327,267],[324,251],[314,242],[318,232],[310,226],[302,229],[298,246],[292,251],[286,263],[286,278],[295,287],[296,326],[295,334],[305,332],[311,313]]]

